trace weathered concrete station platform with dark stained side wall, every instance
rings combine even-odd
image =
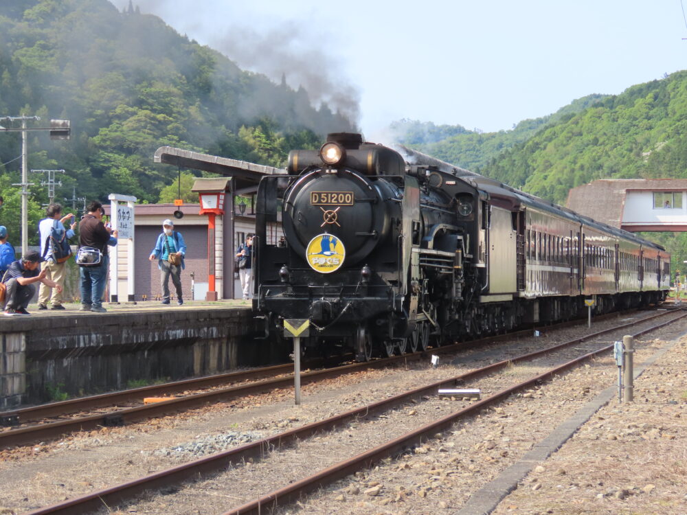
[[[206,376],[275,356],[248,302],[28,307],[0,315],[0,409]]]

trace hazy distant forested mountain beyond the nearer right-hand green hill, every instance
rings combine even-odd
[[[578,98],[552,115],[526,119],[512,130],[482,133],[460,125],[439,125],[403,119],[391,124],[398,142],[425,154],[459,165],[468,170],[482,168],[505,150],[528,141],[541,128],[557,124],[572,115],[598,104],[607,95],[588,95]]]

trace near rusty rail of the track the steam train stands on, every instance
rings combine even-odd
[[[671,311],[663,311],[659,314],[652,315],[651,317],[647,317],[643,320],[651,320],[655,317],[664,316],[670,312]],[[618,316],[618,313],[608,314],[605,316]],[[563,328],[570,325],[576,325],[577,323],[581,322],[582,321],[567,321],[545,327],[548,327],[550,329]],[[539,327],[541,328],[543,326]],[[499,334],[497,336],[487,336],[480,340],[473,340],[468,342],[456,343],[453,345],[445,345],[443,347],[437,347],[435,349],[432,349],[431,353],[447,354],[450,352],[455,352],[456,350],[462,350],[462,347],[466,345],[470,345],[471,348],[476,348],[483,345],[488,345],[489,343],[493,343],[495,341],[513,338],[514,336],[517,337],[530,334],[532,334],[532,330],[526,329],[513,333]],[[381,367],[386,367],[388,365],[394,365],[397,363],[420,361],[421,359],[427,357],[427,352],[414,352],[412,354],[392,356],[390,358],[384,358],[376,361],[367,361],[365,363],[353,363],[351,365],[343,365],[341,367],[305,372],[301,374],[301,384],[306,385],[311,382],[316,382],[318,380],[326,378],[343,376],[345,374],[351,373],[352,371],[377,369]],[[284,367],[289,365],[277,366]],[[243,374],[243,372],[238,372],[235,374]],[[210,378],[213,377],[216,376],[210,376]],[[251,382],[248,385],[237,385],[234,387],[216,389],[202,393],[194,393],[192,395],[185,397],[171,398],[170,400],[155,402],[154,404],[145,404],[137,407],[120,409],[109,413],[98,413],[96,415],[78,417],[68,420],[60,420],[58,422],[49,422],[47,424],[38,424],[35,426],[17,428],[10,431],[3,431],[0,432],[0,449],[12,446],[33,444],[35,442],[41,442],[49,439],[54,439],[63,435],[68,435],[76,431],[93,431],[94,429],[98,429],[101,427],[123,426],[125,424],[131,424],[133,422],[138,422],[140,420],[170,415],[171,413],[179,413],[179,411],[183,411],[186,409],[203,407],[206,404],[210,404],[212,402],[226,402],[228,400],[240,398],[247,395],[256,395],[258,393],[265,393],[273,389],[291,387],[291,385],[293,385],[293,374],[289,374],[281,378],[273,378],[258,382]]]

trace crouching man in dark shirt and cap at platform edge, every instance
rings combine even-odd
[[[40,282],[48,288],[57,288],[62,293],[62,286],[46,277],[47,272],[41,271],[41,262],[45,261],[38,252],[30,252],[21,260],[10,264],[3,276],[3,283],[7,288],[5,294],[5,315],[13,317],[17,314],[30,314],[26,306],[36,293],[34,283]]]

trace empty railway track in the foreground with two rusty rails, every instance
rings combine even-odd
[[[457,384],[467,381],[474,381],[477,378],[482,378],[497,371],[501,371],[512,366],[514,363],[523,363],[531,361],[539,356],[551,354],[553,352],[570,350],[571,347],[574,347],[574,345],[578,345],[581,342],[591,342],[594,339],[598,339],[598,337],[602,335],[624,330],[633,325],[646,323],[647,321],[663,317],[666,314],[667,313],[657,314],[653,317],[639,321],[618,325],[614,328],[596,332],[594,334],[588,334],[582,336],[581,338],[566,341],[543,350],[538,350],[537,352],[530,352],[528,354],[510,358],[499,363],[493,363],[492,365],[475,369],[466,374],[461,374],[460,376],[455,376],[453,378],[447,378],[428,385],[423,385],[422,387],[418,387],[412,391],[407,391],[385,400],[374,402],[368,406],[353,409],[347,411],[346,413],[341,413],[326,420],[308,424],[300,428],[295,428],[291,431],[280,433],[279,435],[274,435],[272,437],[261,439],[257,442],[245,444],[223,453],[217,453],[216,455],[192,461],[188,464],[163,470],[147,477],[143,477],[135,481],[129,481],[128,483],[117,485],[106,490],[100,490],[98,492],[93,492],[92,494],[70,499],[57,505],[35,510],[34,512],[31,512],[31,515],[80,514],[98,510],[98,508],[102,507],[103,505],[113,506],[117,503],[122,503],[122,501],[127,499],[132,499],[133,496],[145,490],[176,485],[181,481],[185,481],[186,479],[197,478],[199,475],[210,474],[212,472],[217,472],[218,470],[223,470],[230,464],[238,464],[243,460],[260,459],[261,457],[264,457],[266,451],[280,448],[282,446],[288,446],[296,440],[303,440],[311,437],[312,435],[323,433],[324,431],[331,431],[333,429],[340,428],[344,424],[348,424],[352,420],[356,420],[359,417],[379,415],[385,411],[393,409],[394,407],[398,407],[399,405],[412,402],[413,400],[420,400],[421,402],[423,396],[435,396],[436,390],[440,387],[453,387]],[[687,314],[681,313],[677,317],[671,317],[671,319],[668,321],[657,325],[651,325],[649,328],[644,328],[638,332],[635,332],[634,336],[646,334],[684,317],[687,317]],[[585,354],[581,356],[577,356],[572,360],[552,367],[544,373],[537,374],[536,376],[533,376],[524,382],[518,382],[515,385],[510,385],[501,391],[497,391],[497,393],[493,394],[492,396],[488,396],[487,398],[474,402],[464,409],[460,409],[454,413],[440,417],[438,420],[434,420],[430,424],[426,424],[425,426],[416,428],[405,435],[395,437],[384,444],[365,450],[363,453],[360,453],[351,459],[340,461],[333,466],[329,466],[323,470],[319,470],[315,474],[311,474],[309,477],[304,477],[299,481],[284,485],[282,488],[278,488],[277,490],[274,490],[273,492],[270,492],[259,499],[254,499],[253,501],[238,507],[234,507],[232,510],[226,512],[226,514],[260,513],[261,510],[264,511],[271,509],[276,505],[276,503],[279,503],[279,505],[284,505],[284,503],[296,499],[302,494],[311,492],[317,488],[321,488],[323,485],[332,483],[333,481],[336,481],[341,477],[345,477],[346,475],[357,470],[361,470],[362,468],[368,468],[372,464],[385,457],[393,456],[402,448],[408,448],[418,444],[418,442],[423,440],[431,439],[431,437],[433,437],[436,433],[451,427],[452,424],[455,424],[455,422],[460,420],[462,417],[474,415],[478,411],[483,410],[485,407],[497,402],[501,402],[502,400],[508,398],[508,396],[511,396],[513,393],[522,391],[523,389],[528,389],[532,387],[532,385],[539,385],[541,382],[545,382],[546,380],[552,378],[555,374],[559,374],[562,371],[584,363],[594,356],[609,352],[609,350],[612,350],[612,348],[612,344],[599,344],[599,348],[593,350],[592,352],[585,352]]]

